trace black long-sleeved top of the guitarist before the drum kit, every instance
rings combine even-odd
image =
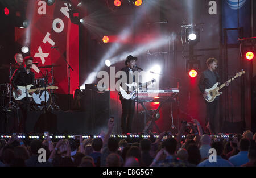
[[[11,77],[10,84],[15,89],[18,89],[17,86],[27,86],[30,84],[35,85],[35,73],[30,71],[30,73],[27,74],[27,71],[24,67],[16,69],[13,77]]]

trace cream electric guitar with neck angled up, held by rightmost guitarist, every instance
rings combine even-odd
[[[238,72],[234,77],[230,78],[230,79],[229,79],[228,81],[226,81],[226,82],[232,82],[235,78],[241,77],[242,74],[244,74],[244,73],[245,73],[245,71]],[[225,82],[225,83],[226,83],[226,82]],[[205,92],[208,92],[208,94],[207,94],[207,96],[204,96],[204,95],[203,95],[204,99],[205,99],[206,101],[208,101],[208,102],[213,102],[217,96],[219,96],[219,95],[222,94],[222,92],[219,92],[219,90],[222,89],[222,88],[224,88],[224,86],[226,86],[225,83],[222,84],[222,85],[220,85],[220,86],[218,86],[220,83],[217,82],[216,84],[213,85],[212,88],[205,89]]]

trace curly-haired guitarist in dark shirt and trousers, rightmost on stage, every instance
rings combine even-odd
[[[207,63],[208,69],[206,69],[204,72],[201,73],[201,76],[199,78],[199,83],[198,83],[200,92],[203,94],[204,97],[207,97],[207,94],[208,94],[208,92],[206,92],[205,89],[212,88],[212,86],[216,84],[216,82],[220,82],[220,76],[216,72],[216,68],[218,67],[217,65],[218,60],[211,57],[206,61],[206,63]],[[229,85],[229,82],[226,82],[226,86],[228,85]],[[214,124],[216,122],[214,122],[214,117],[215,117],[216,108],[218,105],[218,96],[213,102],[205,101],[205,103],[207,105],[207,118],[205,120],[205,124],[209,122],[210,127],[212,128],[212,131],[214,133],[214,131],[216,131],[215,124]]]

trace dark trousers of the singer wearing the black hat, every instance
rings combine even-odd
[[[131,133],[131,125],[135,111],[135,100],[125,100],[120,97],[122,104],[121,129],[123,133]]]

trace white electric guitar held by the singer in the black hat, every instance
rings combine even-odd
[[[143,88],[146,88],[148,85],[150,85],[151,83],[154,83],[155,82],[155,79],[151,80],[151,81],[148,81],[146,83],[143,83],[143,84],[140,84],[138,85],[136,82],[133,82],[132,84],[127,84],[125,83],[126,86],[128,86],[128,90],[127,92],[120,86],[120,93],[121,93],[121,96],[123,99],[126,99],[126,100],[130,100],[130,99],[135,99],[135,93],[136,93],[136,89],[139,88],[139,87],[143,87]]]

